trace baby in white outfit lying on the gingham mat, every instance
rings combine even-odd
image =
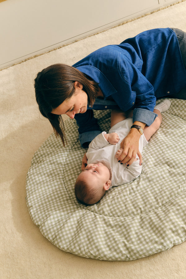
[[[170,101],[164,100],[155,106],[157,114],[151,126],[145,126],[144,133],[139,139],[139,152],[148,144],[148,140],[159,129],[162,122],[161,112],[170,107]],[[89,144],[86,157],[87,166],[78,175],[75,183],[75,194],[78,200],[86,205],[93,205],[100,201],[105,192],[112,186],[119,186],[136,179],[142,170],[139,157],[130,165],[118,163],[122,153],[120,143],[128,134],[133,124],[132,118],[127,118],[111,127],[108,134],[102,132]]]

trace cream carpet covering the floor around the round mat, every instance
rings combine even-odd
[[[33,80],[38,71],[54,63],[72,65],[99,47],[147,29],[175,27],[186,32],[185,15],[184,1],[0,71],[0,278],[186,278],[186,242],[131,262],[81,258],[59,250],[42,236],[25,200],[33,154],[52,133],[35,101]]]

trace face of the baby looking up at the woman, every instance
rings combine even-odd
[[[94,185],[104,185],[110,179],[110,171],[103,163],[88,164],[78,176]]]

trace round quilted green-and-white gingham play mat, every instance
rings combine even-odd
[[[65,121],[65,148],[54,134],[42,144],[27,174],[26,200],[44,237],[82,257],[126,261],[185,241],[186,101],[170,100],[143,150],[141,175],[108,190],[96,205],[82,205],[74,194],[86,152],[75,120]],[[109,130],[110,112],[95,111],[103,131]]]

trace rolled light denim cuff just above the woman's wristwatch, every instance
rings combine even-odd
[[[150,110],[144,108],[135,108],[133,111],[133,122],[140,121],[145,123],[147,126],[150,126],[155,118],[157,117],[156,113],[153,113]]]

